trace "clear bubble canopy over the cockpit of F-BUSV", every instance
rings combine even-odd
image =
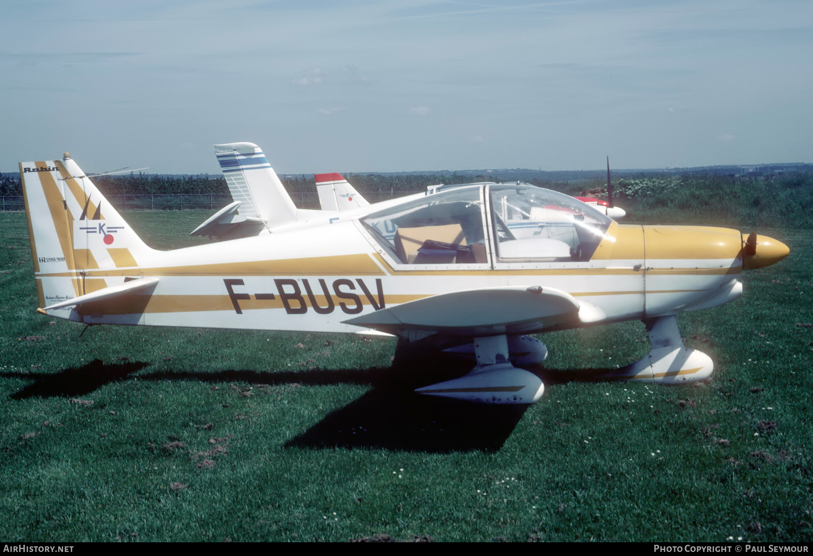
[[[409,265],[482,265],[489,251],[501,262],[585,261],[611,222],[576,198],[529,185],[450,187],[362,219],[396,263]]]

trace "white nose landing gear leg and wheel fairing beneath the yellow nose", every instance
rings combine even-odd
[[[683,384],[711,376],[714,363],[702,351],[689,350],[683,345],[675,315],[644,319],[644,324],[650,334],[650,353],[632,365],[606,373],[602,378]]]

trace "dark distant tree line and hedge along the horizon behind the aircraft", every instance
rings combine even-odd
[[[355,189],[368,193],[372,202],[389,193],[425,191],[428,185],[477,181],[500,182],[493,174],[456,172],[442,174],[346,174]],[[513,176],[512,176],[513,177]],[[223,176],[189,176],[131,173],[93,178],[107,195],[228,194]],[[280,176],[290,193],[314,193],[313,175]],[[569,195],[606,198],[606,179],[553,181],[533,176],[528,184],[556,189]],[[614,198],[627,211],[625,222],[654,220],[813,228],[813,172],[750,172],[741,175],[719,172],[683,174],[638,173],[613,176]],[[20,177],[0,176],[0,195],[21,195]]]

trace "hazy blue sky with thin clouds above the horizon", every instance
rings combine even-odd
[[[813,5],[3,2],[0,170],[813,162]]]

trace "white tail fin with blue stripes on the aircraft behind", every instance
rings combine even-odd
[[[297,207],[259,146],[226,143],[215,145],[215,154],[242,216],[262,219],[267,228],[297,219]]]

